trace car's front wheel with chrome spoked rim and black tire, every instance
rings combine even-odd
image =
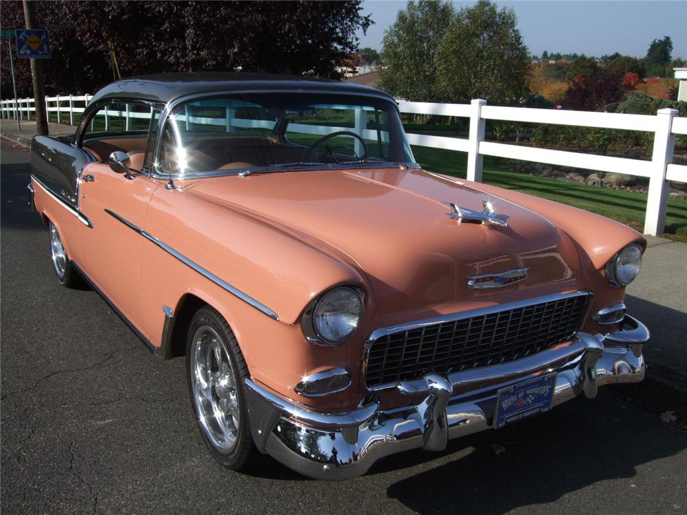
[[[243,382],[248,367],[231,328],[210,306],[191,320],[186,376],[194,415],[210,453],[227,468],[246,468],[258,454]]]

